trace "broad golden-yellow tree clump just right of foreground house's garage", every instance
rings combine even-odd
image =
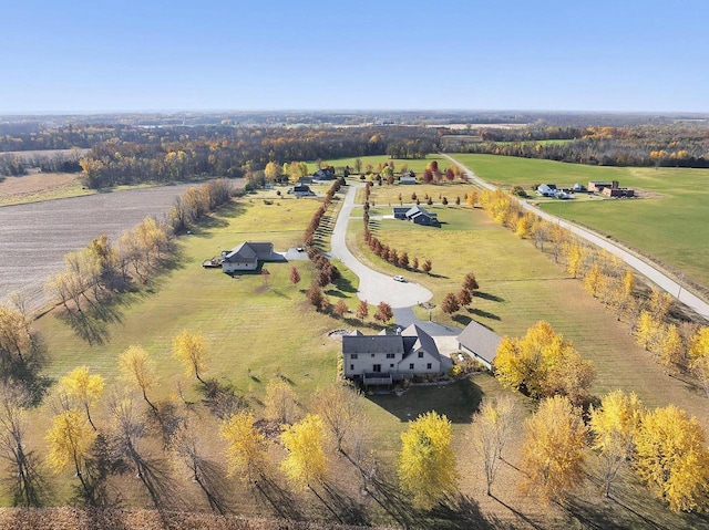
[[[584,361],[569,341],[541,321],[523,339],[504,336],[494,361],[495,375],[503,386],[532,397],[568,396],[580,403],[588,396],[595,377],[590,361]]]

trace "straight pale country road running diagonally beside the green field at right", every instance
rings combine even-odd
[[[460,162],[458,162],[452,156],[445,155],[445,154],[441,154],[441,156],[444,156],[445,158],[451,160],[453,164],[456,164],[461,168],[463,168],[463,170],[467,174],[467,177],[479,186],[482,186],[483,188],[490,189],[490,190],[496,189],[495,186],[480,178],[477,175],[475,175],[473,170],[463,166]],[[609,241],[603,236],[592,230],[582,228],[577,225],[574,225],[573,222],[566,221],[551,214],[547,214],[546,211],[543,211],[540,208],[536,208],[528,202],[521,201],[521,204],[523,208],[525,208],[526,210],[538,215],[543,219],[557,222],[559,226],[567,228],[568,230],[571,230],[578,237],[585,239],[586,241],[589,241],[598,247],[602,247],[606,249],[608,252],[617,256],[627,264],[629,264],[633,269],[635,269],[640,274],[643,274],[648,280],[650,280],[653,283],[655,283],[657,287],[668,292],[670,295],[672,295],[675,299],[682,302],[688,308],[691,308],[693,311],[696,311],[698,314],[703,316],[706,320],[709,320],[709,304],[707,302],[705,302],[693,293],[687,291],[687,289],[685,289],[682,285],[677,283],[675,280],[672,280],[665,273],[662,273],[659,269],[655,268],[651,263],[643,260],[641,258],[624,249],[620,245]]]

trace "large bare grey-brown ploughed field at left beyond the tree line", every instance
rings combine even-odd
[[[179,184],[0,208],[0,300],[21,291],[29,308],[39,310],[48,301],[43,284],[62,268],[65,253],[85,247],[102,233],[115,241],[146,216],[165,215],[175,197],[191,186]]]

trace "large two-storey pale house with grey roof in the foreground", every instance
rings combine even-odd
[[[391,385],[414,375],[440,374],[450,362],[442,357],[433,337],[411,324],[401,334],[363,335],[354,332],[342,337],[345,377],[364,386]]]

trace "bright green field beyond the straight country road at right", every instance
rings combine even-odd
[[[544,201],[551,214],[589,226],[656,258],[709,289],[709,170],[598,167],[494,155],[453,155],[481,178],[525,189],[542,183],[586,186],[618,180],[656,195],[641,199]]]

